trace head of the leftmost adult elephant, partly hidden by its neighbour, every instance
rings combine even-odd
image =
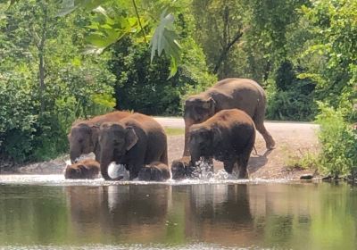
[[[70,141],[70,157],[72,163],[77,161],[80,154],[89,154],[95,151],[98,140],[98,130],[98,126],[88,125],[87,123],[79,123],[71,128],[68,139]]]

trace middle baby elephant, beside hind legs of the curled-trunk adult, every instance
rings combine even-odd
[[[169,166],[162,162],[152,162],[145,165],[138,173],[139,180],[164,181],[170,179]]]

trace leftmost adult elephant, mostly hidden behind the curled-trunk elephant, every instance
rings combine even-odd
[[[104,121],[120,121],[129,116],[130,112],[110,112],[104,115],[95,116],[87,121],[75,121],[71,126],[68,136],[70,142],[71,163],[76,162],[80,154],[95,154],[95,160],[100,162],[100,148],[98,144],[99,126]]]

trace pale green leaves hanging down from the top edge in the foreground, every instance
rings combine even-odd
[[[143,29],[148,22],[145,20],[151,19],[154,22],[150,12],[144,12],[145,18],[139,16],[135,0],[132,1],[132,4],[128,4],[126,1],[109,0],[62,0],[62,8],[58,15],[66,15],[78,8],[96,13],[89,26],[91,32],[87,35],[87,42],[90,46],[87,48],[87,53],[100,54],[105,48],[130,33],[142,33],[145,41],[146,36]],[[112,12],[112,17],[105,8]],[[163,10],[157,27],[151,30],[154,34],[150,43],[150,46],[152,46],[151,61],[153,61],[155,54],[160,56],[162,50],[170,58],[170,77],[175,75],[178,70],[181,52],[178,36],[173,29],[173,21],[173,14],[167,13],[167,9]]]

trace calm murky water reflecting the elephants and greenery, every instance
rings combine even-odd
[[[0,183],[0,248],[357,247],[345,183]]]

